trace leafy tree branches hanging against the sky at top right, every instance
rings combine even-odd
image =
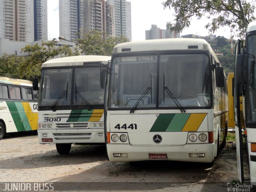
[[[230,26],[242,38],[248,23],[255,20],[255,0],[166,0],[162,5],[174,10],[174,22],[168,22],[168,26],[175,31],[189,27],[193,16],[198,20],[206,17],[210,20],[205,26],[209,32]]]

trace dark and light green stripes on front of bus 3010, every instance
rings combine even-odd
[[[71,110],[70,116],[67,122],[86,122],[89,121],[92,116],[93,110],[87,109],[75,109]]]

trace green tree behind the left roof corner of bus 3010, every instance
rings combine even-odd
[[[68,45],[56,46],[57,39],[42,42],[42,45],[27,45],[21,52],[26,54],[24,62],[20,64],[20,73],[24,79],[32,79],[33,76],[40,76],[41,65],[49,59],[56,57],[73,56],[74,53]]]

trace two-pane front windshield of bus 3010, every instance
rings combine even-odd
[[[104,102],[99,66],[42,69],[40,83],[40,107],[91,108]]]

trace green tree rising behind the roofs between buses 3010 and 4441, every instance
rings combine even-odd
[[[97,30],[81,32],[79,36],[76,40],[76,51],[84,55],[111,56],[114,46],[129,41],[124,36],[108,36],[107,32]]]

